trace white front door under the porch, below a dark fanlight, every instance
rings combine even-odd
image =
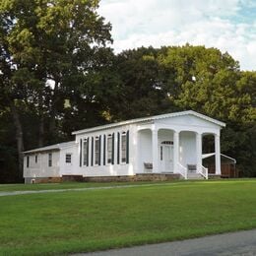
[[[173,146],[172,145],[162,145],[160,146],[160,160],[161,169],[165,172],[173,171]]]

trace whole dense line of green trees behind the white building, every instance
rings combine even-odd
[[[1,1],[0,181],[21,180],[24,150],[71,140],[73,130],[186,109],[226,122],[222,152],[256,176],[256,72],[189,44],[114,54],[97,7]]]

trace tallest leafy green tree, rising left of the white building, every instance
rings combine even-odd
[[[37,116],[39,146],[58,140],[67,95],[88,98],[86,77],[111,52],[111,26],[97,8],[97,0],[0,2],[0,90],[16,126],[20,171],[30,147],[24,146],[21,112],[32,109]]]

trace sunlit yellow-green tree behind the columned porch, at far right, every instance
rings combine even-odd
[[[241,72],[228,53],[188,44],[169,47],[160,63],[171,70],[174,104],[223,120],[223,152],[237,160],[244,175],[256,175],[256,73]]]

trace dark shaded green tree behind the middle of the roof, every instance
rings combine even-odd
[[[158,60],[160,51],[153,47],[141,47],[125,50],[116,56],[113,67],[117,74],[119,94],[112,100],[110,107],[115,119],[123,120],[170,110],[165,76]]]

